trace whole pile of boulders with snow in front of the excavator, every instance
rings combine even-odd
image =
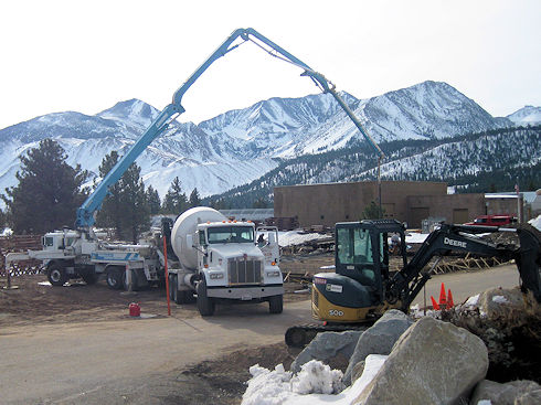
[[[501,305],[509,308],[499,308]],[[523,312],[530,313],[527,318],[531,321],[532,315],[515,291],[503,290],[486,291],[469,300],[453,312],[453,321],[456,323],[460,313],[470,311],[491,322]],[[494,348],[487,349],[490,342],[481,338],[453,322],[432,317],[414,322],[404,313],[391,310],[364,332],[319,333],[291,364],[289,373],[295,379],[295,373],[306,370],[306,365],[314,367],[315,361],[329,363],[340,359],[344,363],[343,359],[348,358],[349,362],[341,367],[346,370],[341,383],[349,387],[341,394],[325,397],[310,394],[300,399],[297,391],[295,397],[280,395],[284,401],[272,404],[541,404],[541,386],[534,381],[503,384],[485,380]],[[375,372],[367,372],[364,363],[374,354],[383,360]]]

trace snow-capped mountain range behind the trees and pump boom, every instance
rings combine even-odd
[[[370,99],[341,96],[378,142],[436,139],[511,126],[446,83],[424,82]],[[159,111],[131,99],[95,116],[56,113],[0,130],[0,190],[15,184],[19,157],[55,139],[67,162],[96,174],[113,150],[124,154]],[[187,193],[221,193],[275,169],[278,160],[365,142],[329,94],[272,98],[199,125],[173,121],[137,159],[144,181],[163,196],[174,177]]]

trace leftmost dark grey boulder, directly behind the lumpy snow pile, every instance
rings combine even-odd
[[[333,369],[344,370],[362,331],[321,332],[297,355],[290,370],[298,373],[303,364],[319,360]]]

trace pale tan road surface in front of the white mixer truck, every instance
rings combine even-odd
[[[140,403],[126,383],[140,386],[152,382],[152,373],[167,374],[203,359],[282,342],[287,326],[306,319],[308,305],[299,301],[287,303],[282,315],[269,315],[266,305],[231,306],[210,319],[2,328],[2,403],[110,404],[128,398]],[[104,387],[118,387],[118,396],[102,398]]]

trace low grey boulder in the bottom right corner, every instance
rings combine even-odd
[[[541,386],[538,383],[528,380],[512,381],[506,384],[484,380],[475,387],[470,403],[490,401],[491,405],[515,405],[519,397],[526,394],[532,396],[539,390]],[[527,404],[526,396],[522,401]]]

